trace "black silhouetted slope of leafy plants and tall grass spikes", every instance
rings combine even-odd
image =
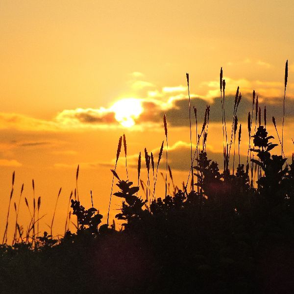
[[[189,74],[186,76],[189,86]],[[285,71],[285,95],[287,78],[288,63]],[[157,197],[156,184],[165,142],[162,142],[156,165],[153,153],[148,154],[145,148],[147,180],[141,175],[141,152],[139,153],[137,185],[134,185],[127,172],[126,137],[123,135],[119,139],[115,167],[111,170],[113,180],[106,224],[101,225],[103,216],[94,207],[92,193],[92,207],[86,209],[81,205],[77,192],[79,166],[76,187],[69,197],[65,232],[59,239],[52,236],[52,227],[61,188],[50,234],[44,232],[39,237],[39,230],[37,229],[37,235],[34,232],[35,224],[41,219],[41,198],[38,198],[36,208],[35,195],[33,196],[32,213],[25,197],[31,221],[24,233],[18,217],[16,218],[11,245],[7,244],[9,202],[6,229],[0,247],[1,291],[106,294],[293,293],[294,155],[292,159],[287,159],[284,154],[284,123],[280,140],[275,119],[272,118],[279,139],[278,146],[271,142],[273,136],[267,130],[266,108],[262,123],[258,96],[253,91],[252,109],[247,117],[248,133],[243,135],[246,144],[248,140],[247,160],[242,164],[242,127],[241,123],[238,126],[237,111],[242,95],[238,87],[229,136],[225,118],[225,86],[221,69],[221,170],[218,163],[210,160],[206,152],[210,106],[206,107],[199,133],[199,118],[194,107],[196,149],[193,156],[191,136],[191,167],[182,187],[173,182],[172,169],[168,164],[168,124],[164,115],[164,196]],[[285,105],[285,96],[283,103]],[[190,111],[189,99],[192,132]],[[284,119],[285,110],[283,122]],[[116,171],[122,144],[126,180]],[[278,152],[281,155],[273,153],[277,147],[281,147],[281,152]],[[235,158],[236,148],[238,158]],[[13,173],[10,201],[14,176]],[[114,183],[117,187],[115,193]],[[187,188],[189,184],[191,189]],[[22,193],[23,187],[20,199]],[[123,222],[119,231],[116,230],[114,221],[112,225],[109,224],[112,196],[122,199],[120,212],[116,215],[116,219]],[[70,205],[72,211],[69,211]],[[15,204],[16,216],[19,206],[20,203],[18,207]],[[72,215],[77,221],[75,232],[69,229]]]

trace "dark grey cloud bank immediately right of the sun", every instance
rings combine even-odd
[[[261,100],[261,99],[260,99]],[[231,125],[233,119],[235,96],[225,97],[225,117],[227,125]],[[209,121],[212,123],[221,123],[221,98],[217,97],[213,99],[212,103],[208,103],[201,98],[191,98],[191,118],[192,123],[195,123],[195,115],[193,106],[197,110],[197,122],[203,123],[206,105],[210,105]],[[264,107],[267,107],[267,123],[271,123],[272,116],[275,117],[276,122],[279,123],[283,118],[283,99],[282,98],[263,98],[262,102],[259,102],[259,106],[262,110],[262,123],[264,120]],[[152,121],[161,122],[164,113],[166,113],[168,123],[171,126],[189,126],[189,101],[188,99],[176,100],[173,107],[169,110],[163,111],[158,105],[152,102],[146,102],[144,104],[144,113],[140,116],[140,122]],[[245,94],[242,96],[241,102],[238,107],[237,117],[239,122],[246,122],[248,112],[252,112],[252,95]],[[294,118],[294,100],[286,99],[285,108],[286,119]],[[255,105],[253,110],[253,118],[255,120]]]

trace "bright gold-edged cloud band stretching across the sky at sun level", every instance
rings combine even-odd
[[[245,62],[245,61],[244,61]],[[249,62],[249,61],[246,61]],[[260,66],[270,66],[263,61],[257,61]],[[186,86],[156,87],[151,82],[138,80],[143,75],[139,72],[132,73],[134,80],[131,88],[138,91],[138,98],[124,98],[139,101],[142,111],[138,115],[132,115],[130,123],[135,124],[133,130],[156,127],[162,125],[164,113],[167,115],[169,126],[188,126],[189,102],[188,89]],[[233,116],[235,91],[240,86],[242,100],[237,113],[239,122],[246,122],[248,112],[252,111],[252,89],[256,90],[262,111],[267,106],[268,122],[271,117],[280,123],[283,116],[283,88],[282,81],[249,81],[246,79],[226,80],[225,115],[230,124]],[[286,92],[286,123],[294,117],[294,84],[288,83]],[[221,98],[219,80],[202,82],[198,85],[198,94],[191,92],[192,123],[195,123],[193,106],[197,109],[197,121],[201,125],[206,105],[210,105],[210,122],[221,122]],[[116,129],[123,128],[122,121],[118,122],[117,102],[108,108],[76,108],[59,112],[52,120],[35,119],[23,114],[0,113],[0,129],[18,129],[21,131],[64,131],[83,128]],[[141,107],[140,106],[140,107]],[[120,106],[121,107],[121,106]],[[126,111],[131,107],[126,107]],[[119,108],[120,109],[120,108]],[[123,115],[123,112],[120,114]],[[128,121],[129,122],[129,121]],[[40,144],[40,143],[39,143]]]

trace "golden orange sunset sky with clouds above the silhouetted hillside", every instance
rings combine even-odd
[[[291,157],[294,138],[294,2],[231,0],[17,1],[0,3],[0,188],[6,218],[12,172],[12,203],[20,202],[24,229],[32,205],[32,179],[41,196],[40,221],[49,229],[56,197],[54,233],[63,233],[75,173],[80,166],[81,202],[106,220],[119,137],[125,133],[129,180],[137,183],[137,158],[144,148],[157,160],[169,131],[169,164],[181,186],[189,173],[191,105],[201,125],[211,107],[207,151],[222,153],[220,68],[226,81],[226,116],[243,125],[241,158],[246,160],[247,113],[252,91],[267,106],[267,129],[281,133],[285,62],[289,60],[284,145]],[[194,112],[192,111],[194,119]],[[196,144],[195,121],[192,141]],[[276,136],[275,136],[276,137]],[[276,140],[276,138],[274,139]],[[276,141],[275,141],[276,142]],[[278,149],[279,147],[277,147]],[[122,150],[123,151],[123,150]],[[280,152],[278,149],[277,152]],[[123,154],[123,152],[122,152]],[[124,155],[124,154],[123,154]],[[144,157],[143,157],[144,158]],[[123,158],[117,171],[126,178]],[[144,162],[142,163],[144,167]],[[162,160],[160,171],[165,173]],[[146,172],[142,179],[146,182]],[[158,194],[164,181],[158,182]],[[116,188],[115,188],[116,189]],[[142,192],[143,193],[143,192]],[[113,199],[111,218],[120,199]],[[13,204],[12,204],[13,205]],[[15,221],[12,209],[10,222]],[[0,234],[3,228],[0,228]]]

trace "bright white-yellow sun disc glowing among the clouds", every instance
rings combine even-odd
[[[114,103],[110,110],[115,113],[115,119],[125,127],[131,127],[143,112],[141,100],[124,98]]]

